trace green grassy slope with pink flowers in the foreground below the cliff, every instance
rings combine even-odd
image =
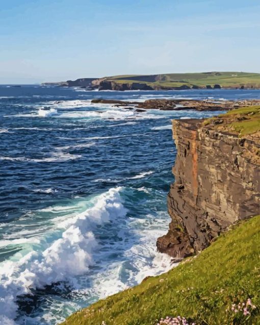
[[[63,325],[153,325],[177,315],[196,325],[260,324],[259,233],[260,215],[241,221],[196,258],[71,315]],[[256,305],[251,315],[231,311],[232,303],[248,298]]]

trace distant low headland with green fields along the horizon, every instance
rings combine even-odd
[[[89,90],[188,90],[188,89],[259,89],[260,73],[201,72],[165,74],[127,74],[103,78],[81,78],[45,82],[43,86],[81,87]]]

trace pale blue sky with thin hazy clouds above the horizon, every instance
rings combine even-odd
[[[260,72],[259,0],[3,0],[0,84]]]

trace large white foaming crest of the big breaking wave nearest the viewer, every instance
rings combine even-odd
[[[52,242],[42,240],[41,249],[25,256],[0,263],[0,323],[14,324],[18,306],[17,296],[32,289],[84,274],[94,264],[93,253],[98,247],[93,230],[96,227],[125,216],[126,209],[120,197],[121,188],[93,198],[94,205],[59,223],[62,230],[56,232]]]

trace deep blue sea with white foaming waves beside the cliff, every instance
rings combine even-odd
[[[259,90],[0,86],[0,323],[58,324],[172,267],[156,239],[176,150],[171,119],[93,98],[260,98]]]

